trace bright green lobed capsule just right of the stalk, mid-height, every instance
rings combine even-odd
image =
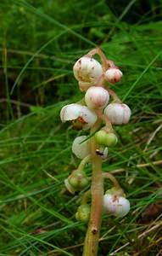
[[[107,133],[104,130],[96,132],[95,139],[99,145],[104,145],[107,147],[113,147],[118,142],[118,138],[116,137],[115,133]]]

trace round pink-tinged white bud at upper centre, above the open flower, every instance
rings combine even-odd
[[[103,87],[92,86],[86,92],[85,102],[88,108],[104,108],[109,102],[109,92]]]

